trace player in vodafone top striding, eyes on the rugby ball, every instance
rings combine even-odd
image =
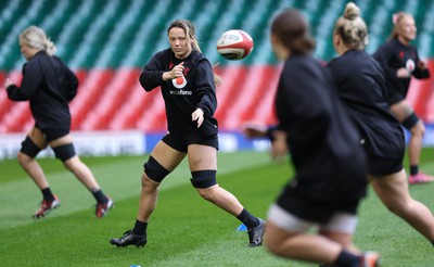
[[[111,243],[142,246],[148,242],[148,221],[156,206],[157,188],[187,155],[193,187],[205,200],[237,216],[247,227],[250,245],[258,246],[263,243],[265,221],[251,215],[216,181],[218,128],[213,115],[217,107],[218,77],[201,53],[191,22],[173,22],[167,35],[170,49],[157,52],[143,67],[140,84],[146,91],[161,87],[169,132],[144,164],[135,227]]]

